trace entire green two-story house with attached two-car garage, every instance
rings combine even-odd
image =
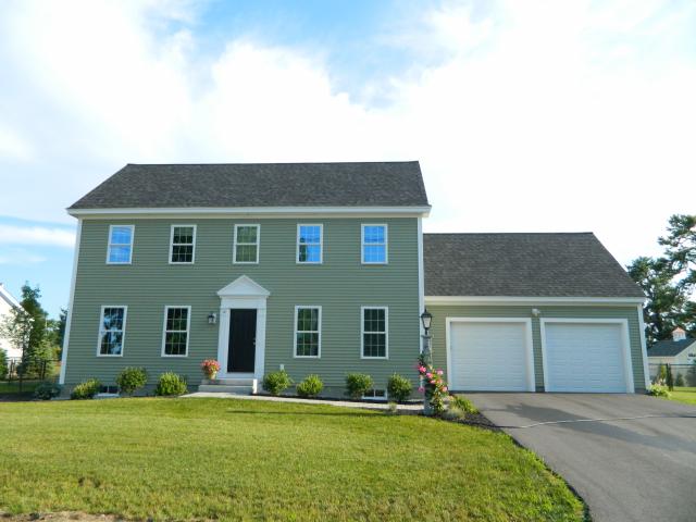
[[[592,234],[431,234],[418,162],[128,164],[78,220],[61,382],[417,382],[420,315],[452,389],[645,388],[643,294]]]

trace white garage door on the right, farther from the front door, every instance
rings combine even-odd
[[[547,391],[626,393],[623,323],[544,323]]]

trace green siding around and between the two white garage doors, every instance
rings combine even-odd
[[[534,348],[534,376],[536,389],[544,389],[544,366],[542,361],[542,327],[540,318],[563,319],[625,319],[629,321],[629,341],[631,346],[631,359],[633,363],[633,382],[636,391],[645,390],[645,377],[643,369],[643,351],[641,347],[641,326],[636,307],[602,307],[602,306],[574,306],[557,307],[543,304],[529,306],[458,306],[458,304],[425,304],[433,314],[433,363],[445,370],[447,374],[446,349],[446,319],[447,318],[525,318],[532,320],[532,340]],[[532,309],[536,308],[540,314],[532,315]]]

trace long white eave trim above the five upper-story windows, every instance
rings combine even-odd
[[[257,217],[302,217],[316,215],[393,215],[409,217],[420,215],[427,217],[431,206],[414,207],[189,207],[189,208],[147,208],[129,207],[124,209],[66,209],[70,215],[98,217],[103,215],[128,215],[141,217],[162,217],[181,215],[207,215],[212,217],[237,217],[253,215]]]

